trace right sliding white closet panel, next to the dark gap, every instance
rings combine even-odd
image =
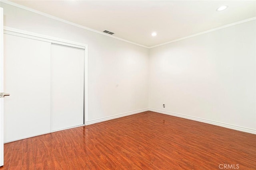
[[[52,44],[52,131],[84,124],[84,49]]]

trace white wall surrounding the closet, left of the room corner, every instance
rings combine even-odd
[[[148,49],[1,2],[4,26],[88,44],[88,121],[148,108]]]

